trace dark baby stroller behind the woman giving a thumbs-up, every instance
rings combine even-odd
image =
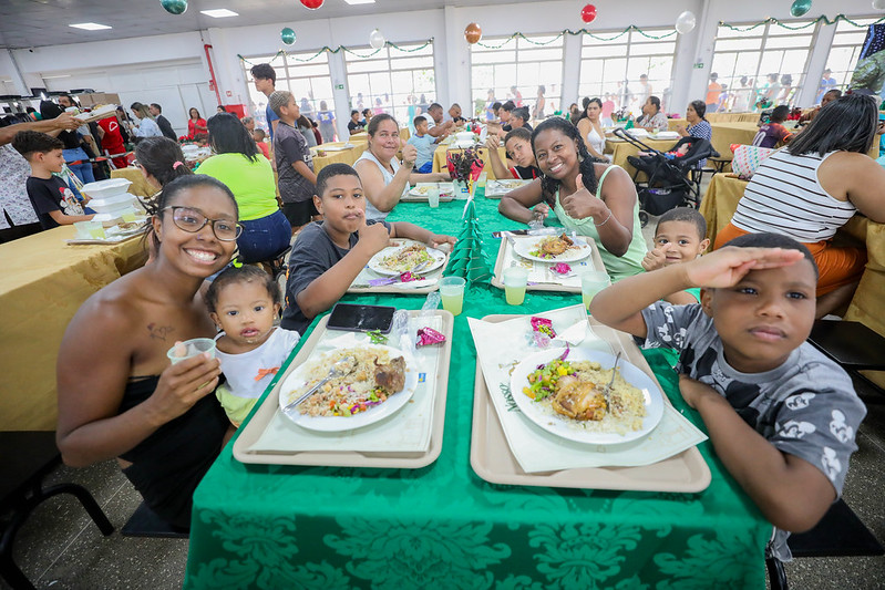
[[[673,144],[670,152],[679,151],[683,146],[688,146],[688,151],[680,157],[669,158],[663,152],[647,146],[624,130],[615,130],[615,135],[649,153],[647,156],[627,156],[627,162],[637,169],[637,175],[644,172],[648,176],[645,186],[637,183],[639,219],[642,226],[648,221],[648,214],[662,215],[682,205],[698,207],[701,200],[700,162],[719,157],[710,142],[699,137],[682,137]]]

